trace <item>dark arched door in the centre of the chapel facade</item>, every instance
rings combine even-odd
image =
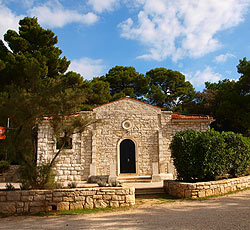
[[[135,143],[130,139],[120,144],[120,173],[136,173]]]

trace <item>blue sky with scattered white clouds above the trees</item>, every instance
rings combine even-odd
[[[116,65],[165,67],[204,82],[238,79],[250,59],[250,0],[0,0],[0,37],[37,17],[85,79]]]

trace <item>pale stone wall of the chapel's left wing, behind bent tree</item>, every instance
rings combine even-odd
[[[83,112],[83,115],[89,115],[89,112]],[[38,164],[51,161],[58,150],[49,121],[45,120],[39,125],[38,140]],[[82,134],[73,134],[72,149],[64,149],[56,160],[56,181],[87,180],[91,163],[91,141],[92,133],[89,129]]]

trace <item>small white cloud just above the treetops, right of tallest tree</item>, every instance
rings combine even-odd
[[[84,79],[92,79],[93,77],[102,76],[107,71],[107,66],[103,64],[101,59],[90,59],[83,57],[81,59],[72,60],[69,70],[80,73]]]

